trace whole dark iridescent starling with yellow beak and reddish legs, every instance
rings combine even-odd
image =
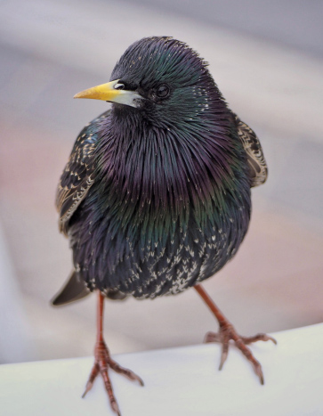
[[[174,37],[130,45],[108,83],[74,98],[112,103],[78,135],[57,188],[60,231],[73,270],[53,306],[95,291],[97,339],[85,394],[101,374],[112,411],[121,415],[109,371],[143,386],[121,367],[103,337],[105,298],[154,299],[194,288],[219,322],[206,342],[220,342],[220,370],[230,339],[253,365],[248,344],[201,282],[238,251],[251,216],[251,188],[268,168],[254,131],[230,110],[208,63]],[[85,396],[84,394],[84,396]]]

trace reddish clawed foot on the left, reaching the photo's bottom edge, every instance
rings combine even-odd
[[[105,342],[101,340],[95,344],[94,364],[90,373],[90,377],[86,383],[85,392],[82,397],[85,397],[86,393],[91,390],[91,388],[93,387],[94,379],[96,379],[96,376],[100,372],[101,377],[104,381],[104,386],[109,396],[111,408],[113,412],[117,413],[117,416],[121,416],[119,406],[117,405],[116,397],[113,393],[112,384],[109,379],[109,368],[118,372],[119,374],[123,374],[127,379],[138,381],[139,384],[143,386],[143,381],[139,376],[137,376],[133,371],[121,367],[121,365],[112,360],[111,356],[109,355],[108,347],[105,345]]]

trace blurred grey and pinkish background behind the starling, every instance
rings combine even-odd
[[[54,195],[125,48],[166,35],[198,50],[260,137],[267,184],[238,255],[206,281],[238,331],[323,321],[323,2],[22,0],[0,4],[0,362],[91,355],[95,297],[54,309],[71,270]],[[106,302],[112,353],[198,344],[217,323],[193,290]],[[311,340],[309,340],[311,342]]]

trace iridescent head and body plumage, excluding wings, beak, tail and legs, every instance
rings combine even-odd
[[[74,262],[90,289],[178,293],[225,265],[246,234],[246,152],[206,62],[186,44],[141,39],[111,79],[143,99],[113,104],[88,127],[94,182],[69,224]]]

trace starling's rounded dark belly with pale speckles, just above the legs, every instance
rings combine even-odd
[[[142,229],[132,239],[120,229],[111,240],[108,225],[104,230],[101,223],[100,232],[71,240],[75,266],[90,290],[113,289],[135,298],[180,293],[216,273],[236,253],[246,234],[247,211],[221,224],[206,221],[203,228],[190,220],[185,229],[162,229],[163,238],[155,240]]]

